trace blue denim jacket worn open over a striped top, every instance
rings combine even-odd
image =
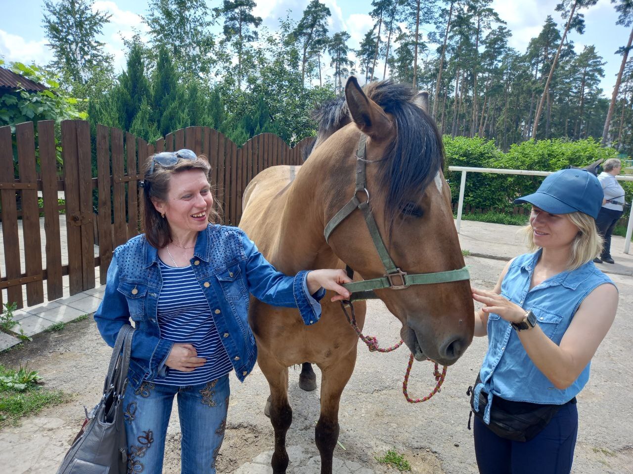
[[[255,364],[257,347],[248,325],[249,293],[269,305],[298,308],[304,324],[321,316],[318,300],[306,285],[308,272],[289,277],[275,270],[241,229],[209,225],[196,240],[191,267],[213,312],[220,339],[237,378],[244,381]],[[161,338],[156,314],[162,288],[158,251],[144,234],[116,248],[103,301],[94,314],[97,328],[109,346],[131,318],[137,331],[132,339],[128,378],[137,389],[143,380],[164,374],[173,343]]]

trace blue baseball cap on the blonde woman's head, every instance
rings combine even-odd
[[[550,214],[584,212],[596,219],[605,198],[600,181],[584,169],[561,169],[543,179],[536,193],[520,197],[515,204],[529,202]]]

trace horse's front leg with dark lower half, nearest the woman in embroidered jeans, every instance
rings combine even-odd
[[[270,465],[273,474],[285,474],[288,453],[285,450],[285,434],[292,423],[292,408],[288,403],[288,368],[258,357],[261,371],[270,386],[270,422],[275,431],[275,451]]]

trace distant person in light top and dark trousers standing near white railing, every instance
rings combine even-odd
[[[618,180],[615,179],[620,174],[620,170],[622,170],[622,162],[617,158],[610,158],[605,161],[603,170],[598,179],[605,192],[605,198],[600,208],[600,214],[596,218],[596,226],[598,226],[598,231],[603,236],[605,243],[600,257],[596,257],[594,262],[596,264],[601,264],[602,262],[613,264],[615,262],[611,257],[611,234],[613,234],[615,224],[617,224],[624,213],[624,189],[622,189]]]

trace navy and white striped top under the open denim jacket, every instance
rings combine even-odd
[[[158,296],[158,325],[161,337],[180,344],[192,344],[197,356],[207,362],[192,372],[168,367],[165,377],[154,382],[162,385],[198,385],[228,374],[232,365],[220,341],[213,314],[196,280],[191,265],[169,267],[159,260],[163,289]]]

